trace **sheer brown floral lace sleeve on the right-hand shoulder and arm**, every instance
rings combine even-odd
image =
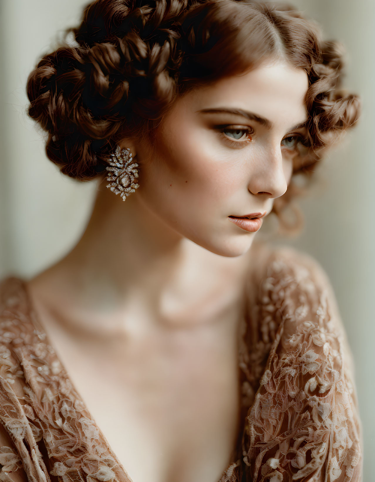
[[[258,287],[259,330],[274,339],[248,414],[251,480],[361,482],[354,364],[333,288],[308,254],[276,252]]]

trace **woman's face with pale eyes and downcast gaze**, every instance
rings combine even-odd
[[[276,63],[179,98],[162,119],[152,148],[134,146],[139,164],[134,195],[205,249],[244,254],[256,231],[229,216],[269,214],[286,191],[307,133],[301,126],[308,119],[307,89],[303,69]]]

